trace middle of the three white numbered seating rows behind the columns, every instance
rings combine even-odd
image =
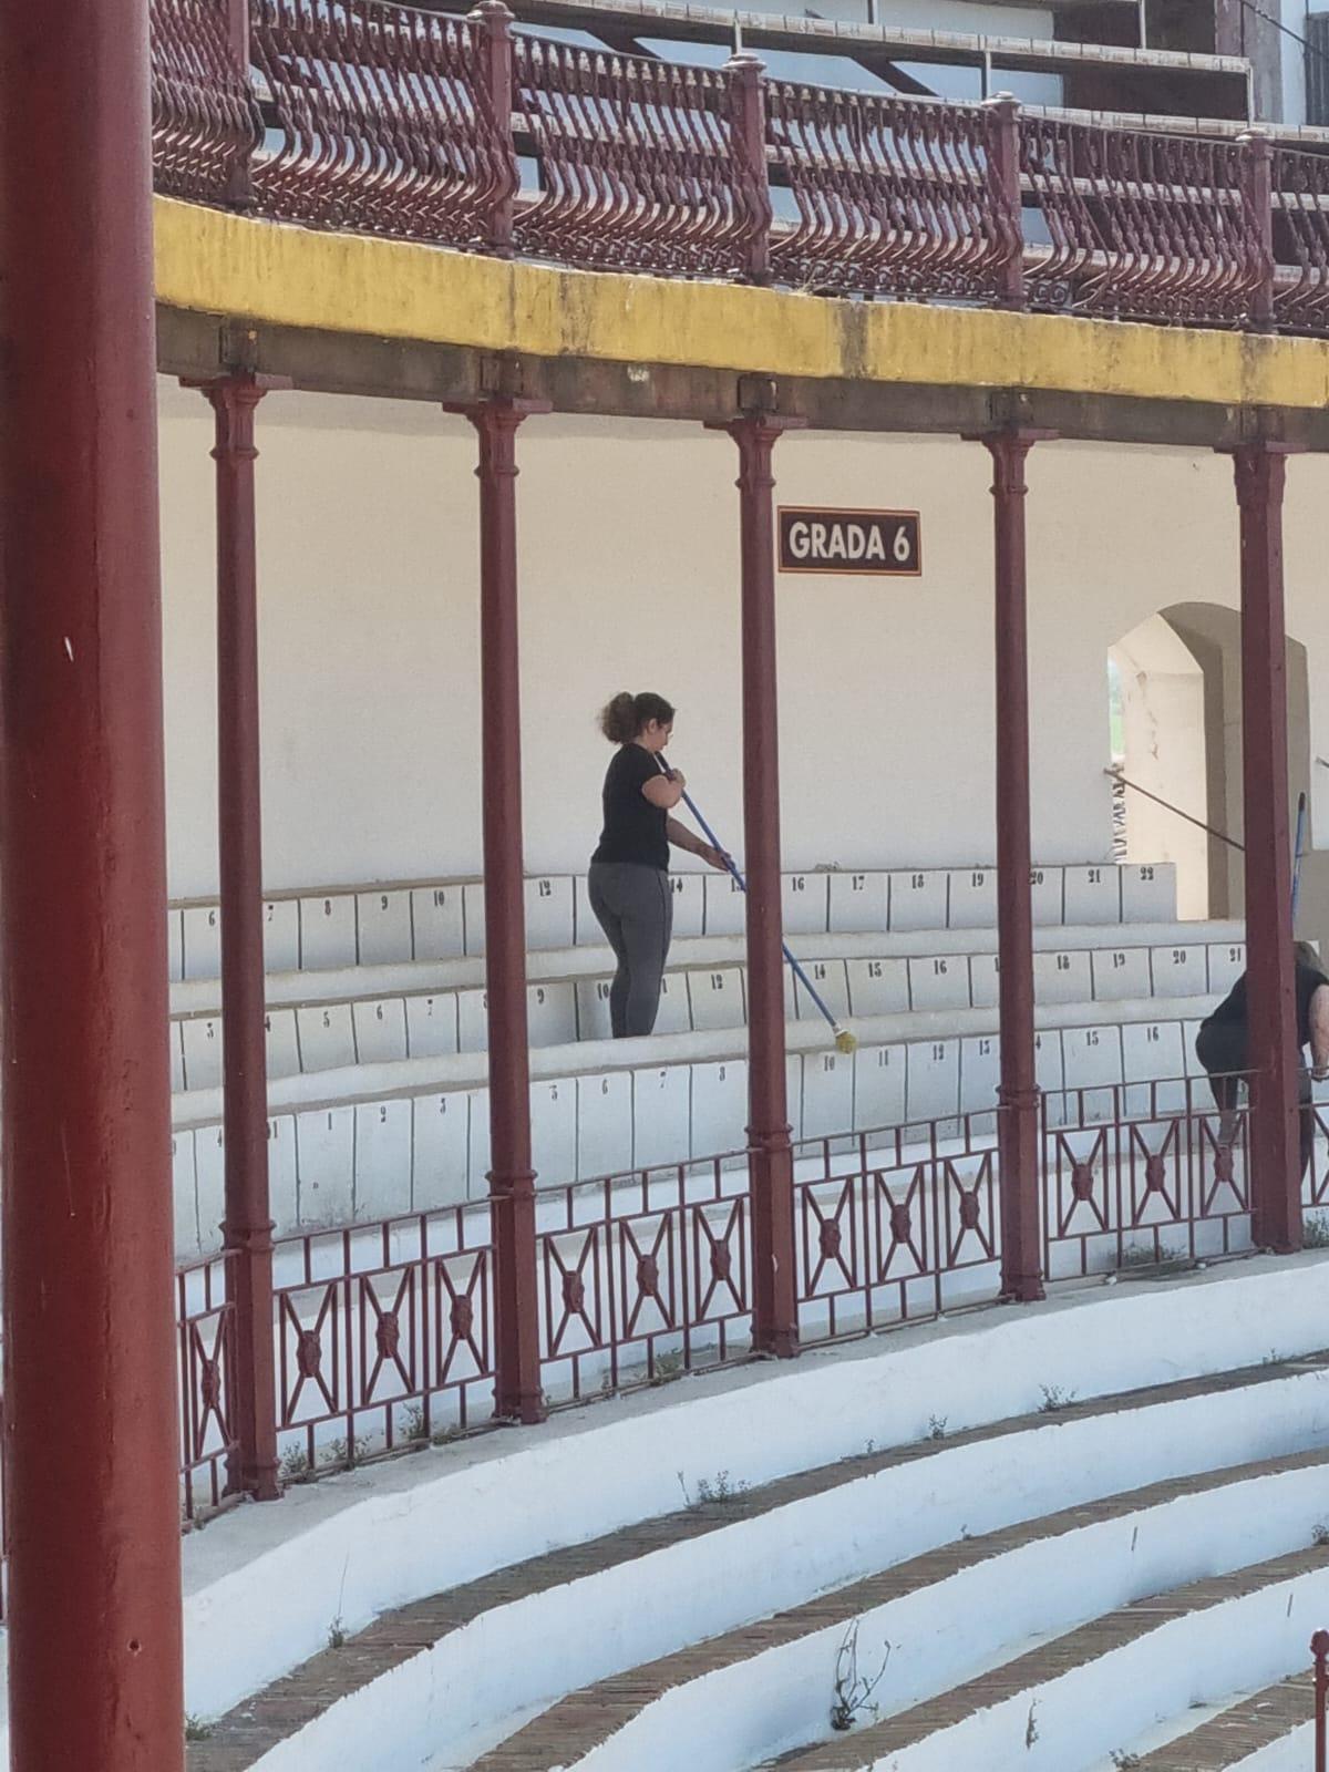
[[[998,1001],[996,953],[806,960],[804,966],[831,1014],[842,1021],[994,1008]],[[1244,966],[1246,948],[1233,941],[1049,950],[1035,955],[1035,987],[1040,1003],[1203,998],[1228,991]],[[526,992],[530,1044],[608,1040],[608,978],[532,983]],[[790,1021],[819,1015],[789,971],[785,1005]],[[666,975],[656,1033],[705,1033],[744,1022],[742,968],[709,966]],[[480,989],[324,1001],[268,1014],[271,1077],[482,1053],[486,1045],[486,992]],[[220,1083],[222,1017],[197,1014],[174,1021],[172,1088],[181,1093]]]

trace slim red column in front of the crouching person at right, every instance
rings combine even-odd
[[[1288,833],[1288,689],[1283,633],[1286,454],[1235,450],[1242,583],[1242,771],[1246,817],[1246,983],[1251,1070],[1251,1233],[1265,1249],[1301,1247],[1297,1010]]]

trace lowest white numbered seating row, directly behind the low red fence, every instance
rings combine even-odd
[[[1191,1014],[1198,1005],[1185,1005]],[[1196,1076],[1193,1021],[1047,1028],[1038,1079],[1074,1095],[1077,1118],[1109,1115],[1111,1090]],[[948,1122],[994,1106],[994,1033],[863,1045],[789,1058],[794,1138]],[[1097,1092],[1102,1092],[1100,1095]],[[1148,1111],[1141,1090],[1141,1113]],[[1161,1092],[1184,1106],[1184,1086]],[[737,1150],[746,1143],[742,1058],[597,1070],[532,1084],[532,1136],[542,1185],[594,1180]],[[273,1217],[280,1232],[372,1223],[486,1194],[489,1102],[484,1088],[397,1093],[278,1111],[268,1125]],[[174,1138],[175,1237],[181,1256],[214,1249],[223,1210],[223,1132],[206,1123]]]

